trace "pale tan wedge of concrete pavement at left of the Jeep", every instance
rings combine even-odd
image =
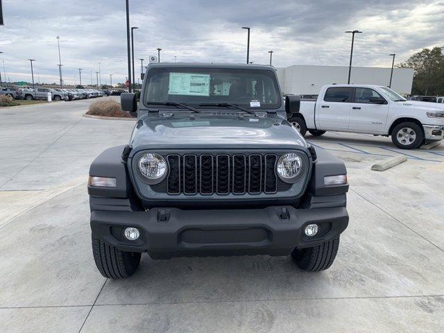
[[[17,217],[22,216],[47,200],[83,184],[86,187],[87,176],[79,177],[54,187],[49,187],[43,191],[0,191],[0,198],[4,203],[0,210],[0,228],[3,228],[11,221],[17,219]],[[6,203],[4,201],[6,201]]]

